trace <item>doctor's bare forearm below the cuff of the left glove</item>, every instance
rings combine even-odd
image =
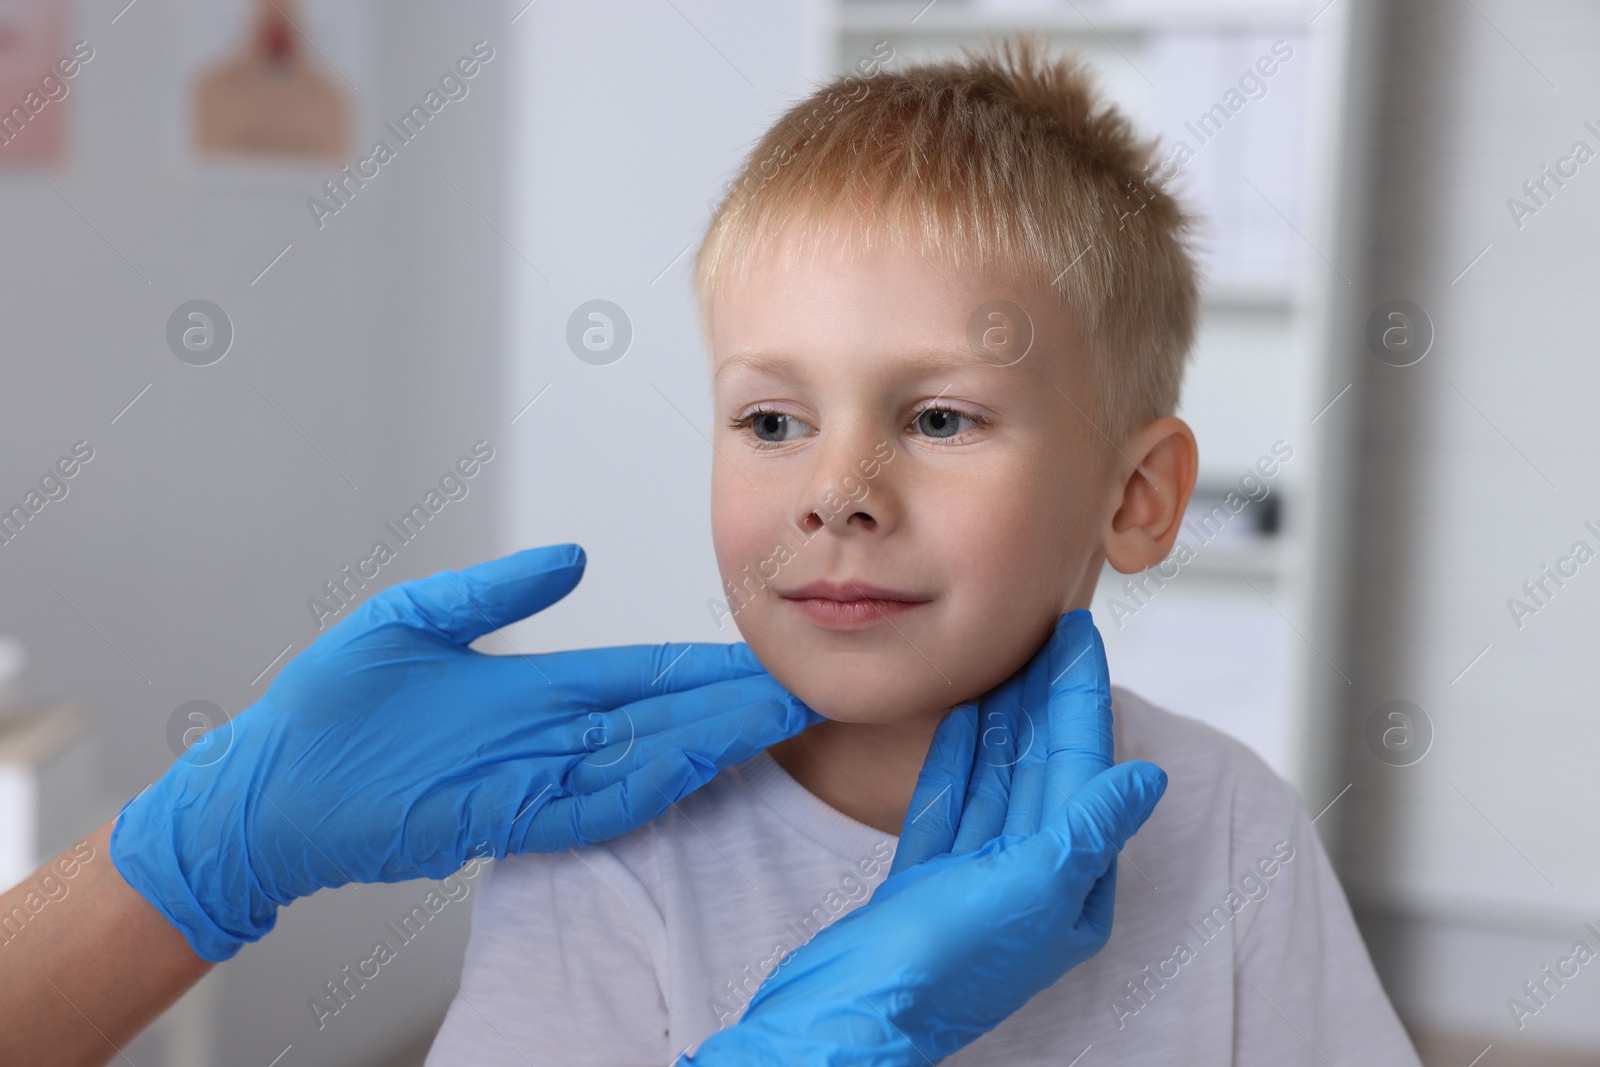
[[[112,865],[110,829],[0,896],[0,1064],[109,1062],[213,966]]]

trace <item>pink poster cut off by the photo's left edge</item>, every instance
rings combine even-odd
[[[66,158],[66,101],[85,62],[67,21],[59,0],[0,0],[0,166]]]

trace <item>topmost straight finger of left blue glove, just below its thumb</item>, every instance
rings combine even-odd
[[[755,653],[742,641],[619,645],[544,653],[539,656],[539,670],[552,685],[573,688],[600,710],[766,673]]]

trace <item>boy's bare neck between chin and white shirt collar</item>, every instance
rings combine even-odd
[[[790,777],[856,822],[899,833],[944,712],[902,723],[821,721],[768,753]]]

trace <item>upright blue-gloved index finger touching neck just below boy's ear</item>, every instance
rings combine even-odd
[[[1043,825],[1059,824],[1078,787],[1115,758],[1106,646],[1088,609],[1061,616],[1050,638],[1050,745]]]

